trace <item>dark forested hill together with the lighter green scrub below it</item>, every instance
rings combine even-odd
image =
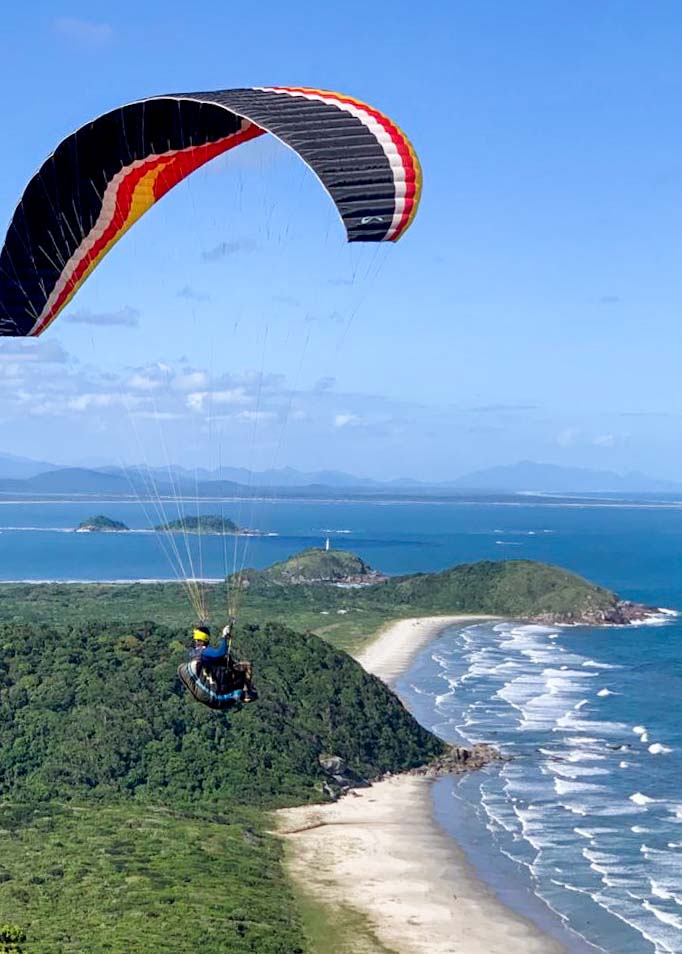
[[[264,809],[324,800],[330,753],[367,777],[443,750],[315,636],[241,626],[261,695],[229,718],[179,684],[186,643],[0,628],[0,921],[30,954],[318,954]]]

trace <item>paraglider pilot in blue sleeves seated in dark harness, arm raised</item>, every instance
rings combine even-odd
[[[251,664],[236,663],[232,656],[233,621],[223,630],[223,637],[227,639],[224,657],[205,659],[198,650],[194,658],[178,667],[178,676],[185,688],[197,702],[210,709],[232,709],[257,698],[251,686]]]

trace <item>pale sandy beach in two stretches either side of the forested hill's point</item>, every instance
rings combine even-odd
[[[427,617],[383,629],[358,661],[386,682],[447,626],[489,617]],[[278,812],[301,887],[368,920],[396,954],[560,954],[506,908],[433,818],[431,781],[396,776],[331,805]]]

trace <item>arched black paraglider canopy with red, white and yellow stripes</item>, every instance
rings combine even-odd
[[[0,252],[0,335],[39,335],[109,249],[173,186],[264,133],[331,196],[351,242],[394,242],[421,189],[414,149],[360,100],[302,87],[155,96],[68,136],[31,179]]]

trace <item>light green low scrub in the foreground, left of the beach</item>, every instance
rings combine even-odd
[[[263,822],[230,805],[3,806],[0,920],[27,943],[3,947],[0,927],[0,952],[302,954],[282,845]]]

